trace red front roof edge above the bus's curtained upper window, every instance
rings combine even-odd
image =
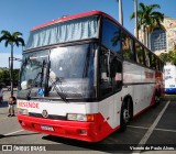
[[[48,26],[48,25],[53,25],[55,23],[69,21],[69,20],[73,20],[73,19],[84,18],[84,16],[89,16],[89,15],[103,15],[103,16],[107,16],[108,19],[111,19],[114,22],[117,22],[112,16],[108,15],[105,12],[101,12],[101,11],[89,11],[89,12],[85,12],[85,13],[78,13],[78,14],[75,14],[75,15],[66,15],[66,16],[62,16],[62,18],[56,19],[56,20],[52,20],[52,21],[46,22],[44,24],[34,26],[31,31],[35,31],[35,30],[38,30],[38,29],[42,29],[42,28],[45,28],[45,26]]]

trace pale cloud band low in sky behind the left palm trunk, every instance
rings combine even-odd
[[[10,53],[0,53],[0,67],[7,67],[9,68],[9,57]],[[22,58],[22,54],[13,54],[13,57],[15,58]],[[21,62],[19,61],[13,61],[13,68],[20,68]]]

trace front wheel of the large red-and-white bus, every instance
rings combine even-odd
[[[130,98],[123,102],[120,117],[120,130],[123,132],[127,130],[127,123],[132,119],[131,114],[131,100]]]

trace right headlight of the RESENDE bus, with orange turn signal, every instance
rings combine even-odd
[[[95,121],[95,114],[68,113],[67,120],[92,122],[92,121]]]

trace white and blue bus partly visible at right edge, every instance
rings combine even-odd
[[[164,66],[165,94],[176,94],[176,66]]]

